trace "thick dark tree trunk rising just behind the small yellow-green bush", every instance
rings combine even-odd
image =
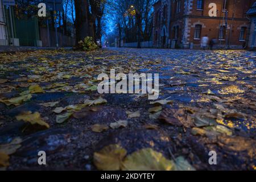
[[[75,0],[75,11],[76,11],[76,44],[80,40],[84,40],[86,36],[90,36],[89,31],[89,8],[87,0]]]

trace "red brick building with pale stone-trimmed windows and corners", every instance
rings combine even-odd
[[[201,37],[215,39],[216,47],[242,48],[249,39],[246,12],[253,0],[160,0],[154,5],[154,47],[200,47]],[[209,16],[210,3],[217,16]],[[165,9],[167,7],[167,9]],[[167,16],[167,18],[165,18]]]

